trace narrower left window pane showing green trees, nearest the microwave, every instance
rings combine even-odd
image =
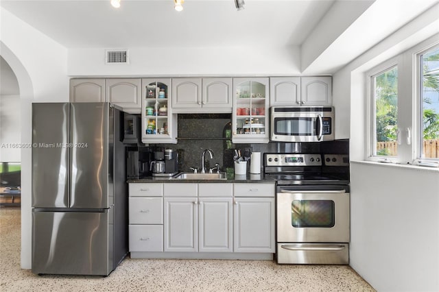
[[[372,156],[396,156],[398,67],[372,76]]]

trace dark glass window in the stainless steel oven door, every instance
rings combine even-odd
[[[294,200],[292,226],[331,228],[335,225],[335,204],[331,200]]]

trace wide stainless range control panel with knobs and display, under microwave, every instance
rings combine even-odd
[[[320,165],[322,165],[322,156],[320,154],[265,154],[265,166],[267,167]]]

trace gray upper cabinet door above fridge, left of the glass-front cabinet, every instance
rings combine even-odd
[[[106,101],[131,114],[141,113],[141,79],[107,79]]]

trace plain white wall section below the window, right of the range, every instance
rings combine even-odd
[[[439,291],[439,171],[351,162],[351,267],[377,291]]]

